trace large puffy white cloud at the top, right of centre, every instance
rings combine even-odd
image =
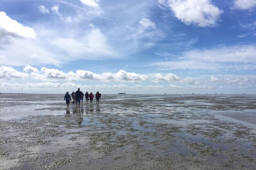
[[[223,13],[211,0],[168,0],[175,16],[186,25],[215,26]]]

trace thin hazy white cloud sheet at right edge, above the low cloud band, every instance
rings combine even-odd
[[[192,50],[177,60],[158,62],[162,70],[171,69],[255,69],[256,45],[222,46],[215,49]]]

